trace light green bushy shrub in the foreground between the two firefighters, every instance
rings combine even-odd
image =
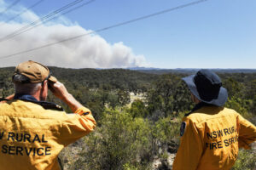
[[[101,126],[84,138],[86,147],[73,169],[147,169],[153,158],[149,123],[126,111],[107,110],[103,115]]]

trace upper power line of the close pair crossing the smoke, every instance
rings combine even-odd
[[[32,23],[30,23],[30,24],[28,24],[28,25],[26,25],[26,26],[21,27],[19,30],[14,31],[13,33],[10,33],[9,35],[7,35],[7,36],[1,38],[1,39],[0,39],[0,42],[9,40],[10,38],[19,35],[21,31],[25,31],[25,30],[28,29],[29,27],[35,26],[35,25],[39,24],[40,22],[42,22],[42,21],[44,21],[44,20],[47,20],[47,19],[49,19],[50,17],[55,16],[55,14],[59,14],[59,13],[61,13],[63,10],[66,10],[67,8],[71,8],[71,7],[73,7],[74,5],[76,5],[76,4],[78,4],[78,3],[81,3],[81,2],[83,2],[83,1],[84,1],[84,0],[76,0],[76,1],[74,1],[73,3],[68,3],[67,5],[65,5],[65,6],[63,6],[63,7],[61,7],[61,8],[58,8],[57,10],[55,10],[55,11],[53,11],[53,12],[51,12],[51,13],[45,15],[44,17],[42,17],[42,18],[40,18],[40,19],[38,19],[38,20],[35,20],[35,21],[33,21]]]

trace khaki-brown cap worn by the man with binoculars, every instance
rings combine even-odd
[[[44,80],[57,82],[55,77],[50,76],[50,71],[47,66],[32,60],[17,65],[14,76],[18,74],[26,76],[32,83],[44,82]]]

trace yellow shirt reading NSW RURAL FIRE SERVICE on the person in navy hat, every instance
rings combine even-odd
[[[184,123],[173,170],[230,169],[239,147],[249,149],[256,140],[256,127],[224,107],[203,106],[184,116]]]

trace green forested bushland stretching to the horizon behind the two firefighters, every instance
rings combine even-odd
[[[14,93],[14,69],[0,69],[2,97]],[[65,169],[172,168],[181,118],[193,108],[189,90],[181,81],[187,74],[57,67],[51,67],[51,71],[76,99],[90,108],[97,121],[94,133],[61,152]],[[255,124],[256,73],[219,72],[218,76],[229,92],[226,106]],[[69,111],[50,93],[49,101]],[[253,169],[253,155],[252,150],[241,150],[233,169]]]

